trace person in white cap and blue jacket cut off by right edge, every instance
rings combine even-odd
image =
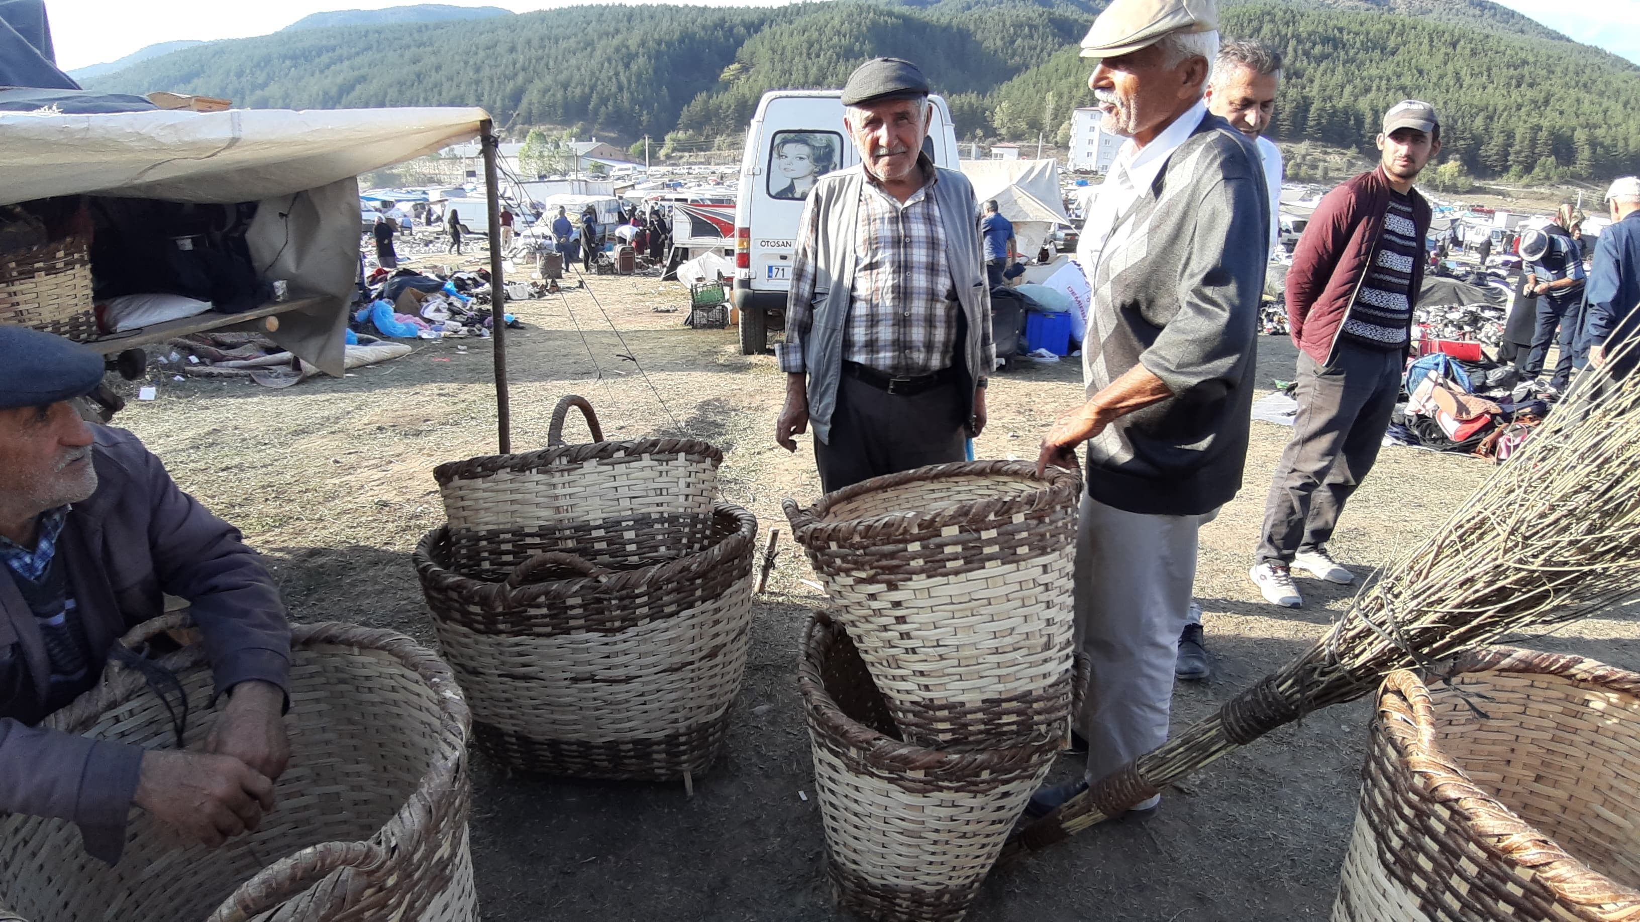
[[[1625,176],[1606,190],[1612,226],[1594,244],[1589,272],[1589,364],[1619,363],[1614,376],[1629,376],[1640,354],[1632,346],[1640,330],[1640,177]],[[1627,349],[1627,351],[1624,351]]]

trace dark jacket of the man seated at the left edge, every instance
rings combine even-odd
[[[192,602],[216,692],[262,679],[289,692],[290,627],[272,577],[239,532],[177,489],[134,435],[97,428],[97,492],[74,504],[57,540],[69,591],[100,663],[130,627]],[[0,566],[0,714],[30,715],[49,681],[34,614]],[[0,812],[79,824],[110,865],[125,845],[143,750],[0,719]]]

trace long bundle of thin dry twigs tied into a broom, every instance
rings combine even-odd
[[[1430,538],[1369,581],[1307,653],[1161,748],[1022,828],[1002,860],[1081,832],[1394,669],[1438,678],[1501,637],[1624,604],[1640,566],[1640,361],[1589,367],[1556,412]]]

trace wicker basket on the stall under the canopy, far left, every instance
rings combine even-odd
[[[0,323],[95,338],[90,241],[75,235],[0,254]]]

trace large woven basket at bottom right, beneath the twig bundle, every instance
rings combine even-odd
[[[1640,674],[1494,648],[1379,692],[1333,922],[1640,919]]]

